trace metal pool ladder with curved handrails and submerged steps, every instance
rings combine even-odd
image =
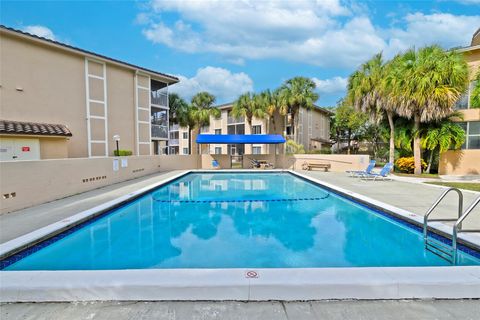
[[[442,202],[445,196],[455,191],[458,194],[458,218],[439,218],[439,219],[429,219],[430,214],[433,210]],[[445,190],[440,197],[432,204],[430,209],[423,218],[423,239],[425,242],[425,249],[436,254],[437,256],[447,260],[451,264],[455,265],[457,263],[457,242],[458,234],[461,232],[480,232],[480,229],[474,230],[464,230],[462,229],[462,222],[465,218],[473,211],[473,209],[480,203],[480,196],[477,197],[470,206],[463,212],[463,193],[457,188],[449,188]],[[444,243],[438,239],[435,239],[433,236],[428,234],[428,222],[438,221],[438,222],[448,222],[455,221],[452,230],[452,242],[451,244]]]

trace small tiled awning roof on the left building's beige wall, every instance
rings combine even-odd
[[[0,120],[0,134],[21,134],[71,137],[72,132],[63,124]]]

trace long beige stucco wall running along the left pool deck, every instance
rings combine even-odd
[[[124,158],[128,162],[127,167],[122,167],[119,161],[118,171],[114,171],[114,159],[116,158],[0,162],[0,213],[159,171],[196,169],[199,165],[197,155],[132,156]]]

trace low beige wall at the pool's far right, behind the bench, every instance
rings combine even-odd
[[[347,170],[365,170],[370,161],[368,155],[346,154],[295,154],[285,157],[279,156],[279,163],[284,169],[301,170],[305,162],[329,163],[329,171],[344,172]],[[318,169],[316,169],[318,170]]]

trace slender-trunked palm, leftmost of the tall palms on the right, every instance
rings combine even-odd
[[[360,66],[348,79],[347,98],[357,110],[370,115],[378,124],[386,114],[390,126],[389,162],[395,161],[394,104],[389,99],[388,87],[384,83],[385,74],[390,70],[378,53]]]

